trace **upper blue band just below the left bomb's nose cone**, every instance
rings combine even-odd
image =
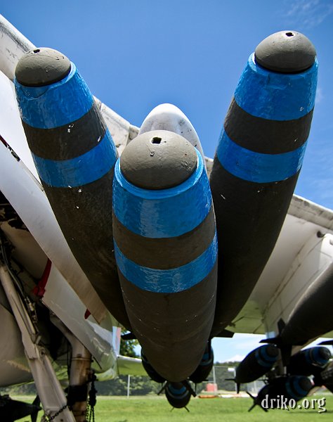
[[[51,129],[78,120],[93,104],[93,96],[74,63],[70,73],[55,84],[25,87],[15,79],[16,96],[23,122]]]

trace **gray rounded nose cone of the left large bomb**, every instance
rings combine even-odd
[[[70,73],[70,60],[57,50],[30,50],[18,61],[15,77],[26,87],[44,87]]]

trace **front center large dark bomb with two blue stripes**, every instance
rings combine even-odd
[[[141,134],[115,166],[115,256],[129,320],[160,376],[200,364],[214,318],[217,243],[202,157],[182,136]]]

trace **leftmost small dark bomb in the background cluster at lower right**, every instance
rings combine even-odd
[[[251,383],[273,368],[279,350],[275,345],[264,345],[252,350],[236,369],[235,383]]]

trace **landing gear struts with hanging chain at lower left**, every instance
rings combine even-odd
[[[8,302],[11,305],[18,327],[20,328],[27,362],[29,363],[30,371],[44,409],[42,420],[54,422],[86,422],[88,385],[93,380],[91,354],[56,316],[51,316],[52,323],[62,331],[72,346],[69,375],[70,385],[68,388],[68,397],[66,397],[63,387],[60,385],[53,369],[48,352],[40,344],[41,335],[37,326],[34,324],[30,312],[27,311],[20,294],[15,289],[15,281],[13,281],[11,269],[6,264],[1,264],[1,262],[0,281]],[[19,405],[17,404],[15,406],[14,402],[9,397],[1,397],[1,420],[9,422],[17,419],[15,411],[18,410]],[[1,403],[3,404],[2,406]],[[38,412],[39,410],[37,404],[20,403],[20,408],[22,411],[30,413],[22,414],[19,417],[30,414],[33,418],[34,412]],[[6,413],[7,418],[2,416],[5,410],[7,413],[9,412],[8,415]]]

